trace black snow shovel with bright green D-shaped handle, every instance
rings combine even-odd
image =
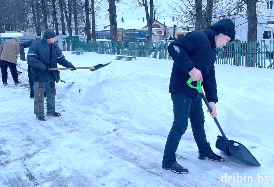
[[[206,99],[206,96],[204,95],[202,91],[201,86],[201,80],[197,81],[197,86],[191,85],[193,79],[190,77],[187,81],[187,85],[190,88],[195,88],[202,96],[204,102],[206,103],[206,106],[209,110],[209,112],[212,112],[211,107],[209,106],[209,103]],[[261,166],[261,164],[257,161],[257,159],[251,154],[250,151],[246,147],[244,147],[243,144],[236,142],[234,140],[228,140],[225,133],[223,132],[223,129],[220,126],[220,123],[218,122],[217,118],[213,118],[216,125],[218,126],[218,129],[220,130],[222,136],[217,136],[216,140],[216,148],[219,149],[221,152],[228,154],[229,156],[233,156],[234,158],[237,158],[247,164],[255,165],[255,166]]]

